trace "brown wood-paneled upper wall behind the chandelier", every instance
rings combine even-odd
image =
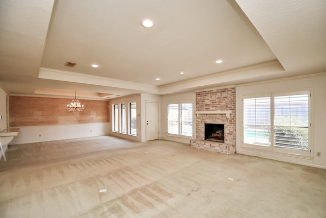
[[[79,100],[84,111],[68,112],[71,99],[27,96],[9,97],[9,126],[47,126],[64,124],[106,123],[108,101]]]

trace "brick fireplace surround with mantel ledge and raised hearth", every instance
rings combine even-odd
[[[197,92],[196,111],[196,139],[190,141],[191,147],[226,155],[235,154],[235,88]],[[226,114],[225,111],[232,113]],[[224,124],[224,143],[205,140],[205,123]]]

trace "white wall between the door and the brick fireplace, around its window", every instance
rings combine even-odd
[[[171,94],[162,96],[161,100],[161,138],[176,141],[181,143],[190,143],[190,140],[196,139],[196,93],[195,92],[186,92],[180,94]],[[181,102],[193,102],[193,137],[187,136],[174,136],[169,135],[168,131],[168,104],[170,103],[181,103]]]

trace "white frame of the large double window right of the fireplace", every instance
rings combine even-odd
[[[289,148],[280,148],[275,146],[274,141],[274,114],[275,114],[275,101],[274,98],[276,96],[288,96],[288,95],[300,95],[300,94],[308,94],[308,150],[294,150]],[[251,148],[261,151],[269,151],[271,153],[278,153],[278,154],[286,154],[286,155],[293,155],[293,156],[302,156],[302,157],[311,157],[313,156],[313,141],[312,141],[312,90],[300,90],[300,91],[289,91],[289,92],[279,92],[279,93],[269,93],[269,94],[259,94],[259,95],[246,95],[241,96],[241,121],[242,121],[242,143],[241,147],[243,148]],[[251,99],[251,98],[264,98],[270,97],[270,146],[266,146],[263,144],[254,144],[254,143],[244,143],[244,106],[243,106],[243,99]]]

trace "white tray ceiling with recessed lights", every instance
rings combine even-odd
[[[0,1],[0,85],[112,99],[308,75],[325,39],[324,0]]]

